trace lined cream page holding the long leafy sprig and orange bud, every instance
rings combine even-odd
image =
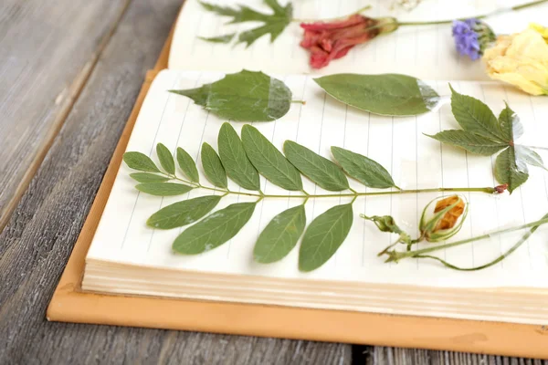
[[[127,151],[142,151],[157,162],[154,150],[156,143],[162,142],[172,151],[180,146],[198,161],[202,173],[198,154],[200,146],[208,142],[216,148],[217,133],[224,120],[217,119],[190,99],[166,90],[193,88],[222,76],[205,72],[161,72],[153,81],[144,101]],[[307,102],[304,106],[293,104],[288,114],[280,120],[254,123],[279,149],[283,141],[292,140],[328,158],[331,158],[330,146],[359,152],[383,164],[392,173],[395,183],[403,189],[484,187],[497,184],[492,173],[494,159],[442,146],[423,134],[458,128],[449,105],[419,117],[379,117],[346,108],[327,96],[311,77],[278,77],[290,87],[294,96]],[[428,83],[440,95],[448,95],[447,82]],[[530,98],[501,84],[461,81],[453,82],[452,85],[463,93],[485,100],[497,114],[503,108],[503,100],[508,100],[511,108],[522,118],[525,133],[521,142],[534,146],[543,146],[545,143],[548,104],[543,98]],[[242,123],[232,124],[239,133]],[[543,157],[548,159],[545,154]],[[436,262],[416,259],[385,264],[383,259],[377,257],[376,254],[395,237],[378,232],[373,223],[364,221],[359,214],[391,214],[400,226],[415,236],[418,234],[417,220],[423,207],[439,193],[357,199],[353,203],[353,227],[346,241],[329,262],[309,274],[298,270],[298,247],[282,261],[272,265],[256,264],[252,258],[253,246],[260,231],[276,214],[301,203],[300,199],[265,199],[258,203],[249,223],[227,244],[203,255],[174,255],[171,245],[181,230],[154,230],[145,225],[147,218],[168,204],[210,192],[193,190],[184,197],[150,196],[134,189],[135,182],[129,177],[131,172],[122,163],[93,239],[89,259],[217,273],[364,283],[442,287],[548,287],[548,230],[543,228],[499,265],[479,272],[455,272]],[[531,168],[529,181],[511,195],[506,193],[496,197],[481,193],[467,194],[469,215],[454,239],[482,235],[498,227],[540,219],[548,212],[546,173]],[[261,179],[263,192],[285,193],[264,178]],[[206,181],[203,174],[201,181]],[[364,191],[360,183],[351,180],[351,185],[357,191]],[[304,188],[309,193],[326,193],[307,179],[304,179]],[[232,182],[230,189],[239,190]],[[227,196],[217,209],[243,201],[246,201],[243,197]],[[349,201],[347,198],[311,199],[306,204],[308,223],[333,205]],[[521,235],[495,236],[473,245],[448,249],[439,255],[458,266],[478,266],[500,255],[516,243]]]

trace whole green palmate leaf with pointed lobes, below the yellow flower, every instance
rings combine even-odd
[[[510,193],[529,178],[527,165],[544,168],[538,153],[516,143],[523,126],[508,104],[497,118],[479,99],[451,91],[451,109],[462,130],[443,130],[428,137],[483,156],[501,152],[495,162],[495,178],[507,184]]]

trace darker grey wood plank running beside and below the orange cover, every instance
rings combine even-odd
[[[0,235],[0,363],[350,363],[351,347],[48,323],[45,310],[180,0],[133,0]]]

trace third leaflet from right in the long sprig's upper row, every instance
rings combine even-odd
[[[302,190],[300,172],[257,128],[246,124],[242,128],[242,143],[249,161],[270,183],[285,190]]]

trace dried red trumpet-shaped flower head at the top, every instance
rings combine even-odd
[[[300,47],[310,49],[312,68],[324,68],[332,59],[345,56],[354,46],[382,33],[379,24],[379,19],[359,14],[334,22],[301,23],[304,37]]]

